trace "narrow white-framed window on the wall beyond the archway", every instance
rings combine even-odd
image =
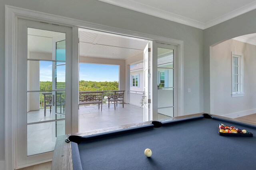
[[[243,54],[232,52],[232,97],[244,96]]]

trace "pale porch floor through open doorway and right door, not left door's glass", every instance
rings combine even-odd
[[[158,114],[159,119],[170,118],[163,114]],[[143,122],[143,108],[132,104],[118,103],[116,110],[114,104],[102,105],[102,111],[96,105],[79,106],[79,131],[86,132],[103,128],[121,126]]]

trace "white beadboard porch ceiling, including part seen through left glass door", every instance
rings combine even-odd
[[[52,38],[64,33],[28,28],[28,51],[52,53]],[[124,60],[142,54],[148,41],[79,30],[80,56]]]

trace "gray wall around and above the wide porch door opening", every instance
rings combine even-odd
[[[4,153],[4,5],[184,41],[184,113],[203,111],[203,30],[97,0],[0,1],[0,153]],[[191,88],[191,93],[186,93]],[[0,154],[0,160],[4,155]]]

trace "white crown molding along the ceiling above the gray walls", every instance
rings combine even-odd
[[[127,8],[130,10],[134,10],[134,11],[138,11],[138,12],[142,12],[144,14],[148,14],[148,15],[152,15],[152,16],[156,16],[159,18],[163,18],[166,20],[170,20],[170,21],[174,21],[174,22],[178,22],[180,24],[184,24],[184,25],[188,25],[188,26],[192,26],[195,28],[199,28],[199,29],[206,29],[206,28],[210,28],[211,26],[220,24],[221,22],[230,20],[236,16],[242,15],[246,12],[249,12],[251,10],[256,9],[256,2],[252,2],[246,6],[242,6],[241,8],[238,8],[232,12],[229,12],[228,14],[225,14],[223,16],[220,16],[219,18],[216,18],[214,20],[211,20],[209,22],[203,23],[203,22],[199,22],[196,20],[192,20],[190,18],[186,18],[184,16],[180,16],[171,12],[167,12],[164,10],[160,10],[158,8],[154,8],[151,6],[147,6],[144,4],[140,4],[138,2],[135,2],[133,0],[99,0],[102,2],[106,2],[108,4],[113,4],[116,6],[120,6],[123,8]]]

